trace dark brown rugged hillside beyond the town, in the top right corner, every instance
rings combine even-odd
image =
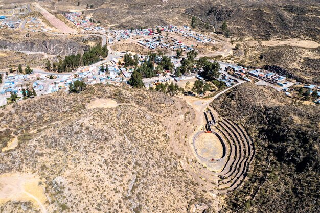
[[[186,11],[212,23],[218,32],[226,21],[233,36],[319,39],[316,1],[298,1],[294,5],[289,1],[206,1]]]

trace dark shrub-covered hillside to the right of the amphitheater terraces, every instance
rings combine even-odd
[[[239,212],[319,212],[319,106],[303,105],[270,87],[249,83],[211,106],[244,124],[256,147],[249,179],[228,196],[222,212],[240,207]]]

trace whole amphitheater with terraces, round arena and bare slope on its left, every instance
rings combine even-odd
[[[211,100],[189,97],[185,100],[187,103],[176,103],[185,110],[182,113],[188,113],[184,117],[174,115],[168,126],[175,135],[173,150],[184,159],[183,169],[199,184],[199,190],[216,195],[236,190],[247,177],[254,159],[252,138],[242,125],[219,116],[209,106]],[[209,109],[212,118],[205,115]],[[177,123],[184,125],[173,125]]]

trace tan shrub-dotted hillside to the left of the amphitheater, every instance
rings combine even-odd
[[[108,98],[118,106],[101,108],[114,107],[101,104]],[[18,146],[1,153],[0,174],[36,175],[48,212],[186,212],[193,200],[210,203],[172,153],[165,125],[175,102],[160,92],[95,86],[7,106],[2,147]],[[0,211],[37,208],[22,199]]]

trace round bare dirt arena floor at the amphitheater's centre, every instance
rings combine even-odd
[[[214,134],[202,133],[195,141],[195,148],[203,158],[221,158],[223,148],[220,140]]]

